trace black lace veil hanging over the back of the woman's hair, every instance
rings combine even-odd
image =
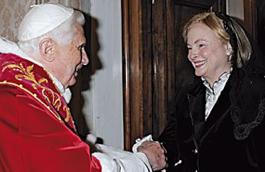
[[[223,13],[215,14],[223,21],[233,48],[231,118],[235,138],[244,140],[265,115],[265,56],[234,18]]]

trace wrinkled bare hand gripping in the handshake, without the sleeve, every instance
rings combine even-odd
[[[154,171],[167,167],[165,149],[159,142],[145,141],[137,148],[137,151],[147,156]]]

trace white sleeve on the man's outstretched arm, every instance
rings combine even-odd
[[[92,155],[100,161],[102,172],[152,172],[144,153],[132,153],[102,144],[95,146],[98,151]]]

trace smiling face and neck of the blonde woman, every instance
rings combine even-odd
[[[230,72],[231,64],[226,55],[230,43],[223,43],[203,23],[193,23],[187,33],[188,59],[196,76],[203,76],[212,86],[224,72]]]

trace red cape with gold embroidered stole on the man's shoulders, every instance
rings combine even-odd
[[[0,112],[0,171],[101,171],[43,67],[0,54]]]

